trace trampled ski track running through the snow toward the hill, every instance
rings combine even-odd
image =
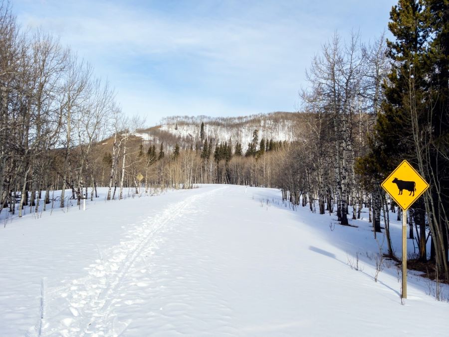
[[[47,289],[45,293],[46,308],[42,308],[42,313],[46,317],[41,318],[36,324],[37,333],[40,336],[120,336],[126,331],[130,321],[119,322],[114,313],[114,305],[120,302],[121,286],[124,278],[135,273],[146,273],[140,265],[148,265],[151,255],[165,241],[164,233],[174,230],[179,225],[178,219],[183,219],[189,213],[196,213],[198,210],[190,208],[200,201],[207,199],[212,194],[221,189],[197,194],[188,197],[182,202],[175,203],[159,214],[148,216],[140,225],[127,232],[125,240],[120,245],[100,252],[99,259],[89,265],[87,276],[81,279],[72,280],[66,286]],[[139,262],[139,263],[138,263]],[[136,267],[139,266],[139,267]],[[151,276],[151,275],[150,275]],[[132,286],[149,287],[152,283],[142,282],[131,283]],[[162,286],[163,287],[163,286]],[[42,298],[44,295],[42,295]],[[61,299],[63,299],[61,301]],[[226,318],[226,306],[223,318]],[[132,304],[132,301],[125,301],[125,304]],[[173,304],[173,307],[180,306],[181,303]],[[116,306],[120,306],[119,304]],[[182,314],[185,308],[180,310],[172,309],[172,313]],[[59,321],[59,325],[52,326],[49,322]],[[223,322],[225,325],[225,322]],[[32,330],[31,330],[32,331]],[[30,334],[32,336],[34,334]]]

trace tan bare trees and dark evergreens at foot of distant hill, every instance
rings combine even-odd
[[[120,133],[118,137],[121,137]],[[204,138],[194,147],[192,144],[180,146],[178,143],[142,142],[140,137],[131,136],[127,145],[128,154],[123,161],[123,155],[116,157],[109,150],[110,144],[115,143],[110,138],[103,144],[97,144],[92,155],[102,160],[87,181],[90,184],[92,179],[99,186],[109,186],[111,189],[110,177],[105,172],[118,165],[114,164],[116,158],[125,167],[120,175],[123,177],[122,185],[135,188],[135,193],[139,193],[141,188],[148,192],[151,188],[192,188],[196,184],[215,183],[272,187],[274,185],[270,181],[274,178],[271,167],[274,162],[279,162],[276,158],[291,146],[286,141],[266,141],[264,138],[259,141],[257,130],[253,132],[246,153],[242,152],[239,141],[233,144],[231,139],[218,143]],[[139,173],[143,176],[141,182],[136,179]],[[115,198],[113,184],[110,198]]]

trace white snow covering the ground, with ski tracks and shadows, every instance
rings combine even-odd
[[[1,228],[1,336],[447,336],[449,304],[417,273],[404,305],[394,265],[374,282],[366,219],[333,227],[244,186],[105,193]]]

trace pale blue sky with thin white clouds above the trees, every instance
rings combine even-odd
[[[170,115],[296,111],[305,69],[334,31],[362,40],[387,28],[393,0],[12,0],[116,88],[148,125]]]

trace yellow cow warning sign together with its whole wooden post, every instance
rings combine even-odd
[[[382,188],[402,208],[402,293],[407,298],[407,210],[429,188],[429,184],[407,160],[384,180]],[[398,193],[399,192],[399,193]]]

